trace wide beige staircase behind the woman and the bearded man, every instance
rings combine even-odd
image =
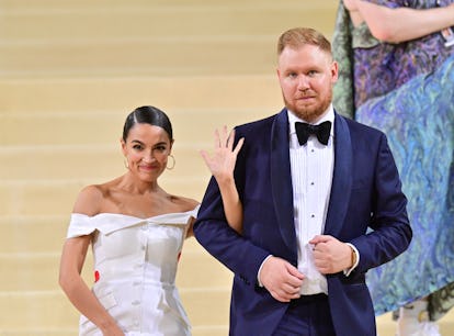
[[[79,313],[58,287],[61,245],[79,190],[124,172],[132,110],[169,114],[177,166],[161,186],[201,200],[209,173],[198,150],[213,131],[282,107],[279,35],[306,25],[330,37],[337,5],[0,0],[0,336],[77,335]],[[194,238],[178,284],[193,335],[227,335],[231,273]]]

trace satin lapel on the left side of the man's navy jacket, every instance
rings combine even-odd
[[[271,188],[279,227],[285,245],[296,251],[293,220],[292,172],[288,149],[288,116],[284,109],[274,120],[271,130]]]

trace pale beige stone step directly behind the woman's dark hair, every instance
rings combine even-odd
[[[246,100],[246,98],[243,98]],[[194,103],[196,104],[196,103]],[[130,111],[135,107],[130,107]],[[268,113],[277,111],[268,109]],[[120,137],[123,124],[129,111],[120,113],[105,111],[55,112],[55,113],[21,113],[11,112],[0,114],[0,139],[2,147],[0,155],[33,155],[35,148],[39,152],[50,152],[55,146],[57,152],[64,145],[76,145],[75,153],[86,145],[88,152],[95,150],[97,146],[110,145],[112,149],[120,150]],[[169,110],[167,112],[172,122],[174,149],[200,146],[198,143],[212,144],[213,131],[222,124],[232,127],[236,124],[265,116],[260,109],[191,109]],[[259,115],[260,114],[260,115]],[[19,130],[20,132],[19,132]],[[43,147],[39,147],[44,145]],[[11,147],[10,147],[11,146]],[[21,147],[18,147],[21,146]],[[33,146],[33,150],[31,147]],[[68,147],[70,148],[70,147]],[[102,152],[105,148],[99,148]],[[69,153],[68,153],[69,154]],[[36,153],[35,156],[41,154]],[[1,169],[1,168],[0,168]]]

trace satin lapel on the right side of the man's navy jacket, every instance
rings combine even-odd
[[[349,205],[352,187],[352,146],[347,121],[336,113],[334,171],[332,175],[325,234],[339,236]]]

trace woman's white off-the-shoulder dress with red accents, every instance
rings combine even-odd
[[[191,335],[175,276],[188,224],[196,211],[150,219],[71,215],[67,238],[94,233],[92,291],[127,336]],[[79,335],[102,333],[82,315]]]

